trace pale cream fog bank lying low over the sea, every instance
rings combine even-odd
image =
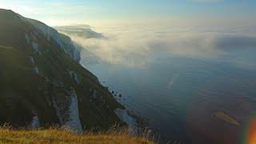
[[[86,50],[82,53],[84,60],[89,54],[101,62],[142,67],[159,55],[214,59],[226,57],[232,50],[256,48],[256,38],[244,35],[243,29],[112,26],[98,31],[107,38],[84,39],[71,35],[74,42]]]

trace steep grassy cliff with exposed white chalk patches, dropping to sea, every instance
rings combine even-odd
[[[42,22],[0,9],[0,123],[106,130],[123,108],[79,65],[70,38]]]

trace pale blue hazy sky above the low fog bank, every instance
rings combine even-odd
[[[256,22],[255,0],[0,0],[50,25],[104,22]]]

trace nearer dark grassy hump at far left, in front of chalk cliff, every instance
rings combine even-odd
[[[20,50],[0,46],[0,122],[14,126],[25,126],[37,106],[43,115],[50,115],[47,122],[57,122],[54,110],[46,105],[46,98],[38,94],[42,77],[35,74],[30,57]]]

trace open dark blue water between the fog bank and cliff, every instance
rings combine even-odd
[[[226,50],[219,58],[154,55],[146,66],[82,58],[82,65],[170,142],[239,143],[256,110],[256,49]],[[84,55],[86,54],[83,53]],[[82,54],[82,55],[83,55]],[[237,120],[234,126],[214,112]]]

